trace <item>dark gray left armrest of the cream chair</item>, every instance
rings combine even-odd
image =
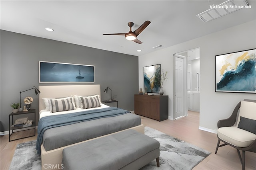
[[[241,102],[239,102],[236,107],[234,108],[234,111],[232,113],[232,115],[230,117],[228,117],[228,119],[222,119],[218,121],[218,128],[220,127],[227,127],[227,126],[233,126],[236,123],[236,117],[237,117],[237,113],[238,110],[241,106]]]

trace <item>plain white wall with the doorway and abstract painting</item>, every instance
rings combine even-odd
[[[207,23],[205,23],[207,24]],[[164,95],[169,96],[169,119],[173,119],[173,60],[175,53],[200,47],[200,129],[216,132],[217,121],[230,116],[243,99],[256,100],[255,94],[215,92],[215,55],[256,48],[256,21],[230,27],[153,53],[139,56],[139,87],[143,88],[143,67],[161,64],[169,71]]]

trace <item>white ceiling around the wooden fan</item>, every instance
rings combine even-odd
[[[1,29],[104,49],[129,55],[144,55],[209,33],[239,25],[256,18],[255,0],[247,0],[252,9],[236,12],[204,23],[196,15],[223,0],[1,0]],[[137,29],[144,21],[151,23],[138,39],[128,41],[126,33],[132,21]],[[46,31],[51,27],[53,32]],[[246,30],[245,30],[246,31]],[[235,35],[234,35],[235,36]],[[207,43],[207,42],[206,42]],[[163,47],[153,49],[152,47]],[[137,52],[141,49],[141,52]]]

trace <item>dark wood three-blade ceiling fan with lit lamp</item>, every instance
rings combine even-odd
[[[130,31],[128,33],[112,33],[112,34],[103,34],[103,35],[124,35],[126,39],[132,40],[135,43],[141,44],[142,42],[137,39],[137,36],[150,24],[150,21],[145,21],[138,29],[132,32],[133,22],[128,22],[128,26],[130,27]]]

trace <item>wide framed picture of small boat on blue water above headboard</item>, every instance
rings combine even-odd
[[[39,61],[40,83],[94,83],[94,66]]]

